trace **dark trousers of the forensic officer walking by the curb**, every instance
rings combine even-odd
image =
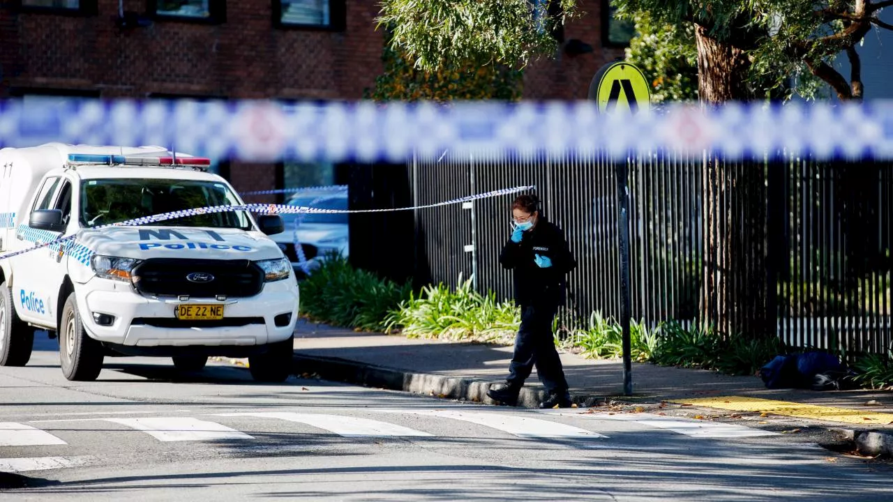
[[[557,312],[557,305],[522,305],[521,328],[514,339],[514,354],[506,379],[509,385],[520,388],[536,366],[539,381],[547,392],[567,392],[567,381],[552,337],[552,322]]]

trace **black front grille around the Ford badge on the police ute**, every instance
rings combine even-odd
[[[191,282],[194,272],[210,273],[208,282]],[[179,297],[253,297],[263,289],[261,267],[248,260],[179,260],[154,258],[139,264],[133,275],[140,293]]]

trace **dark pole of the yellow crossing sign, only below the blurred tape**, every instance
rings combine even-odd
[[[617,197],[620,202],[620,214],[617,219],[619,225],[620,240],[620,324],[623,330],[623,395],[632,395],[632,356],[630,334],[630,185],[629,163],[633,156],[630,154],[626,162],[616,163],[617,171]]]

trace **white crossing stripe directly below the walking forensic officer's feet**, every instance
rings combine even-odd
[[[492,412],[468,412],[453,410],[380,410],[386,413],[396,414],[421,414],[426,416],[439,416],[462,420],[463,422],[477,423],[491,429],[508,432],[519,438],[543,438],[543,439],[568,439],[568,438],[607,438],[598,432],[587,431],[555,423],[538,418],[516,416],[512,414],[499,414]]]

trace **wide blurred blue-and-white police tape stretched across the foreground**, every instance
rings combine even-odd
[[[622,110],[618,108],[618,110]],[[668,151],[729,160],[893,159],[893,101],[665,105],[600,114],[575,102],[0,101],[0,147],[163,145],[251,162],[405,163]]]

